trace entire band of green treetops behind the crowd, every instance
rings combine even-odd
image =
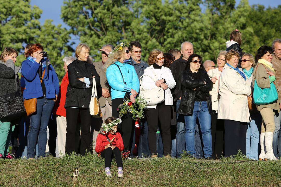
[[[42,10],[30,0],[0,0],[0,50],[14,47],[23,52],[27,43],[40,42],[48,52],[60,79],[64,75],[62,58],[73,55],[71,34],[90,47],[94,61],[106,43],[138,40],[142,58],[160,49],[180,49],[191,41],[203,60],[215,60],[234,29],[242,33],[243,52],[255,54],[261,45],[281,38],[281,5],[265,8],[241,0],[65,0],[61,18],[69,26],[55,26],[52,20],[40,25]],[[18,57],[19,65],[24,56]]]

